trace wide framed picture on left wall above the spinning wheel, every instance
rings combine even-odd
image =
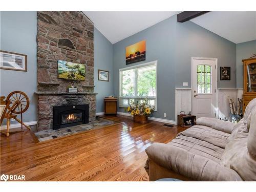
[[[0,50],[0,69],[27,71],[27,55]]]

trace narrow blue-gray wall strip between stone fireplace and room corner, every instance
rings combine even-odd
[[[110,81],[99,81],[98,70],[110,72]],[[94,28],[94,92],[96,95],[96,113],[104,111],[103,99],[113,95],[113,45]]]

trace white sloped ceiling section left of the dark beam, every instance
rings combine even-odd
[[[173,16],[177,11],[83,11],[112,44]]]

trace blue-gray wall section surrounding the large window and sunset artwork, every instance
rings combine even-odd
[[[118,70],[137,65],[138,63],[158,60],[157,63],[157,109],[155,117],[163,117],[166,112],[167,119],[174,119],[175,109],[175,17],[136,33],[114,44],[114,95],[118,96]],[[146,40],[146,60],[132,65],[125,65],[125,47],[138,41]],[[119,108],[123,112],[123,108]]]

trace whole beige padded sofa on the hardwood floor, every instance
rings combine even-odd
[[[199,118],[171,142],[146,148],[150,181],[256,181],[256,98],[233,124]]]

